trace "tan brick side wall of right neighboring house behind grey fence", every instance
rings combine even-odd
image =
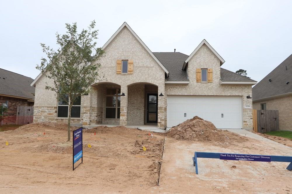
[[[279,129],[292,131],[292,95],[253,102],[253,109],[260,110],[260,104],[266,103],[267,110],[279,111]]]

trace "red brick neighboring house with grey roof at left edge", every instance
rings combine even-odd
[[[30,77],[0,68],[0,106],[8,108],[3,124],[15,124],[17,106],[34,105],[32,81]]]

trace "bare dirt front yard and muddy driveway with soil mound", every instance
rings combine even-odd
[[[66,125],[2,131],[0,193],[292,193],[288,163],[199,159],[196,175],[192,162],[194,151],[291,156],[290,147],[197,119],[152,135],[125,127],[85,129],[84,163],[72,171]]]

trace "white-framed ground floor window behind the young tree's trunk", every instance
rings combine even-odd
[[[68,100],[69,97],[66,96]],[[81,110],[81,96],[79,96],[75,102],[73,102],[73,106],[71,108],[71,117],[72,118],[80,118],[80,110]],[[58,113],[57,117],[67,117],[69,115],[69,105],[65,100],[61,100],[58,102]]]

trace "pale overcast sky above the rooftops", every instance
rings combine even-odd
[[[292,54],[292,1],[2,1],[0,68],[36,78],[65,23],[87,28],[95,19],[98,46],[127,22],[153,52],[190,55],[206,39],[226,61],[260,81]]]

